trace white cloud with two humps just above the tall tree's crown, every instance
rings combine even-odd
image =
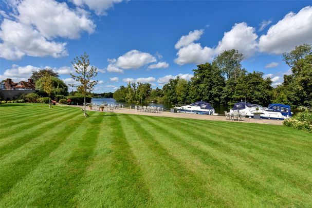
[[[194,32],[190,33],[193,34]],[[207,46],[201,47],[199,43],[194,43],[195,40],[199,39],[199,34],[200,33],[197,32],[197,35],[192,35],[192,38],[189,39],[186,38],[188,35],[182,36],[185,37],[183,40],[187,41],[178,45],[178,47],[181,46],[181,48],[177,52],[178,57],[174,60],[176,64],[201,64],[209,62],[213,60],[215,55],[223,52],[224,50],[231,49],[236,49],[240,53],[243,53],[245,58],[249,58],[258,49],[258,43],[256,41],[258,35],[256,35],[255,29],[247,26],[244,22],[235,24],[230,31],[225,32],[222,40],[219,41],[217,47],[215,48],[209,48]],[[180,41],[182,40],[182,37]],[[191,40],[194,41],[189,43]]]

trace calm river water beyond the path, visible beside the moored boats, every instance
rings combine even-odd
[[[124,103],[124,102],[117,102],[115,99],[113,98],[93,98],[92,103],[96,103],[98,105],[101,105],[103,103],[107,103],[107,104],[116,104],[116,105],[123,105],[123,106],[132,106],[134,107],[135,105],[145,105],[145,106],[157,106],[157,107],[161,107],[164,108],[166,110],[170,110],[170,108],[172,108],[171,104],[167,104],[167,103]],[[213,106],[215,112],[217,114],[224,114],[224,111],[229,111],[229,107],[226,106],[222,106],[222,105],[217,105],[217,106]]]

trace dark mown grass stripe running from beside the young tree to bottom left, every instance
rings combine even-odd
[[[48,182],[41,191],[45,195],[38,196],[33,206],[76,206],[72,198],[80,190],[81,179],[85,175],[88,165],[93,161],[94,148],[101,130],[103,116],[90,114],[88,123],[83,127],[84,133],[79,139],[78,146],[72,149],[70,158],[66,165],[61,167],[56,177],[46,178]]]

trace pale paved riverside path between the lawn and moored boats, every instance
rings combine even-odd
[[[72,107],[80,107],[83,108],[83,106],[77,106],[77,105],[62,105],[62,106],[72,106]],[[89,108],[86,108],[87,111],[98,111],[99,110],[89,110]],[[107,111],[104,111],[107,112]],[[232,121],[227,120],[225,116],[211,116],[211,115],[199,115],[199,114],[186,114],[182,112],[167,112],[167,111],[161,111],[159,113],[154,112],[141,112],[135,109],[129,109],[129,108],[120,108],[120,109],[114,109],[114,113],[118,114],[133,114],[133,115],[144,115],[144,116],[160,116],[160,117],[172,117],[172,118],[183,118],[183,119],[198,119],[198,120],[210,120],[210,121],[227,121],[227,122],[239,122],[239,123],[260,123],[260,124],[273,124],[273,125],[282,125],[283,121],[281,120],[274,120],[274,119],[261,119],[256,120],[253,118],[245,118],[245,121]]]

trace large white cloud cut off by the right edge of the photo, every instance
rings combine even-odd
[[[295,46],[312,43],[312,7],[307,6],[297,14],[290,12],[268,29],[259,41],[261,52],[282,54]]]

